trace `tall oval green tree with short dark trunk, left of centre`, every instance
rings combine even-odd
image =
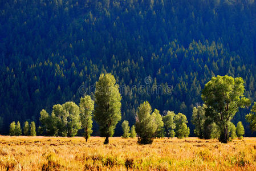
[[[101,74],[96,82],[94,119],[99,124],[101,136],[105,137],[104,144],[108,144],[108,138],[113,136],[121,120],[121,95],[112,74]]]

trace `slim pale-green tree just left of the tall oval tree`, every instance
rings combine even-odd
[[[94,100],[91,99],[91,96],[87,95],[80,98],[79,109],[82,129],[84,130],[83,136],[87,142],[92,133],[92,112],[94,111]]]

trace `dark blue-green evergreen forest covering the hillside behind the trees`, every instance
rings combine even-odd
[[[116,136],[145,100],[160,113],[184,113],[193,128],[192,109],[212,76],[241,76],[256,100],[255,28],[254,0],[1,0],[0,133],[14,120],[39,125],[43,108],[78,104],[83,93],[94,98],[90,86],[106,72],[126,90]],[[233,119],[246,136],[248,112]]]

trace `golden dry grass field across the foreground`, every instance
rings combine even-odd
[[[256,138],[233,140],[0,136],[1,170],[256,170]]]

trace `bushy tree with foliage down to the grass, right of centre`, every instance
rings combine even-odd
[[[144,101],[137,109],[135,130],[139,136],[138,143],[140,144],[151,144],[153,137],[155,137],[157,124],[155,116],[151,112],[152,108],[148,101]]]

